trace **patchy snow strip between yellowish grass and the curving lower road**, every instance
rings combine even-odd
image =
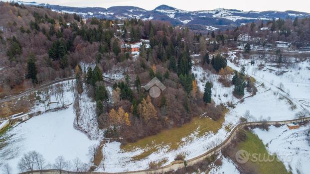
[[[167,160],[162,166],[168,165],[174,161],[178,154],[185,154],[186,159],[194,158],[203,154],[207,150],[221,143],[228,136],[228,132],[221,128],[216,134],[208,132],[197,138],[197,132],[193,132],[190,136],[184,137],[180,143],[184,143],[177,150],[169,150],[169,147],[163,146],[159,151],[152,153],[147,158],[134,161],[133,157],[143,153],[143,149],[134,149],[130,152],[123,151],[119,142],[106,143],[102,152],[105,154],[105,161],[98,168],[97,172],[126,172],[137,171],[149,168],[150,162],[159,162],[162,159]]]

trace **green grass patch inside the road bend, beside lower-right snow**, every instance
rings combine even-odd
[[[263,159],[264,155],[266,158],[267,156],[270,156],[269,158],[272,159],[272,155],[268,153],[264,143],[258,138],[257,135],[251,131],[247,131],[246,135],[247,139],[244,142],[240,142],[237,146],[239,150],[245,150],[250,154],[250,159],[246,165],[249,164],[249,166],[257,169],[259,174],[290,174],[276,155],[274,155],[275,160],[272,162],[253,162],[252,160],[255,160],[255,158],[253,158],[251,154],[260,154],[260,157],[257,156],[259,159]]]

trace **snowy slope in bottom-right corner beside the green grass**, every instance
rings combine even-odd
[[[269,131],[254,129],[253,132],[266,145],[270,154],[277,154],[288,171],[293,174],[309,174],[310,143],[308,125],[290,130],[287,125],[270,126]]]

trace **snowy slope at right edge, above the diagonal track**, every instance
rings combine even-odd
[[[241,55],[242,56],[242,55]],[[251,66],[249,61],[245,59],[239,59],[239,65],[244,65],[246,74],[254,77],[257,81],[264,83],[265,86],[281,87],[287,92],[290,97],[296,99],[296,101],[304,100],[310,101],[310,62],[306,60],[304,62],[295,62],[295,58],[290,58],[293,62],[281,68],[277,68],[272,63],[266,63],[259,55],[252,57],[255,60],[255,65]],[[229,60],[236,59],[234,53],[230,53]],[[228,61],[228,65],[235,70],[240,70],[240,66],[236,66],[231,61]],[[265,68],[259,70],[258,64],[265,64]],[[274,70],[274,71],[273,71]],[[283,74],[282,74],[282,73]],[[282,74],[282,75],[279,75]]]

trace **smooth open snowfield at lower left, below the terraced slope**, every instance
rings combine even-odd
[[[17,164],[24,153],[36,151],[43,155],[46,164],[54,164],[58,156],[73,161],[79,158],[89,163],[88,148],[96,140],[73,127],[75,119],[72,105],[69,108],[35,116],[10,129],[8,145],[0,150],[0,163],[7,163],[12,173],[18,173]],[[8,154],[6,154],[8,152]]]

